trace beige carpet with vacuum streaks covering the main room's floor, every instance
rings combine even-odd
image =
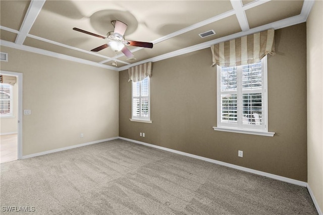
[[[305,187],[121,139],[1,164],[0,191],[1,214],[317,214]]]

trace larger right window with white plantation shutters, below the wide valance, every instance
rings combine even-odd
[[[217,67],[219,128],[267,131],[266,58]]]

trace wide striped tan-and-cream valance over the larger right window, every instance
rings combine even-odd
[[[256,63],[275,54],[274,29],[250,34],[211,46],[213,64],[238,66]]]

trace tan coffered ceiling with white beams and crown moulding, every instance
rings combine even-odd
[[[80,63],[127,69],[209,47],[269,28],[305,22],[313,1],[3,1],[1,45]],[[107,47],[113,20],[128,25],[126,40],[152,42],[153,48],[127,46],[135,59]],[[200,33],[215,34],[201,38]],[[117,66],[113,63],[116,60]]]

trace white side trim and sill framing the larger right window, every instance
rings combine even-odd
[[[217,131],[235,132],[235,133],[245,133],[245,134],[255,134],[264,136],[274,136],[274,132],[268,132],[268,94],[267,94],[267,56],[261,59],[261,70],[262,70],[262,106],[264,107],[264,114],[262,118],[263,127],[262,129],[244,128],[239,124],[234,126],[230,123],[221,122],[221,66],[217,65],[217,126],[213,127]],[[241,82],[239,76],[237,82]],[[238,98],[241,100],[242,98]],[[240,120],[240,123],[242,121]]]

